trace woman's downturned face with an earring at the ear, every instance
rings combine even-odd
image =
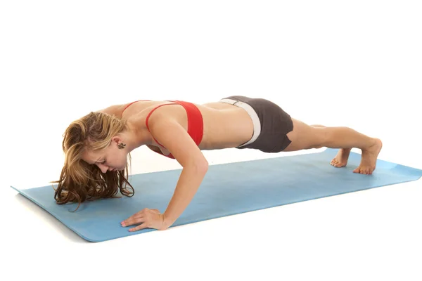
[[[103,173],[107,171],[122,171],[127,164],[127,149],[119,149],[120,138],[113,138],[110,145],[101,151],[85,151],[82,159],[88,164],[97,165]]]

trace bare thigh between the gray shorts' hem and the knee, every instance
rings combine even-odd
[[[307,150],[321,148],[326,138],[324,127],[309,126],[298,119],[292,118],[293,131],[287,134],[291,143],[284,151]]]

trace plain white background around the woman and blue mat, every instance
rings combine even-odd
[[[72,120],[138,99],[269,98],[422,169],[420,1],[148,2],[1,2],[0,279],[421,280],[421,180],[101,243],[10,188],[58,179]],[[132,157],[132,174],[179,169]]]

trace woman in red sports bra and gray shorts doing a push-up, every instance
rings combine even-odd
[[[119,190],[122,195],[134,195],[127,181],[127,157],[141,145],[176,159],[183,169],[165,212],[139,211],[122,221],[122,226],[141,223],[129,231],[172,226],[207,172],[207,159],[201,150],[340,148],[331,165],[342,167],[347,164],[350,150],[359,148],[362,159],[354,173],[370,175],[382,148],[378,138],[347,127],[308,126],[262,98],[230,96],[203,105],[138,100],[91,112],[68,126],[63,140],[65,165],[56,181],[58,204],[113,197]]]

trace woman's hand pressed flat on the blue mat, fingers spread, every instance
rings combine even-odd
[[[170,227],[165,221],[164,215],[158,209],[145,208],[142,211],[130,216],[122,221],[122,226],[132,226],[141,223],[141,225],[130,228],[129,231],[141,230],[143,228],[155,228],[157,230],[165,230]]]

